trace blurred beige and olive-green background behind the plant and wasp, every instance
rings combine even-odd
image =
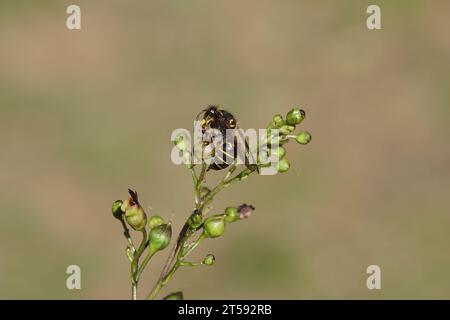
[[[2,0],[0,298],[128,299],[111,203],[134,188],[179,230],[193,198],[170,134],[213,103],[256,128],[301,106],[313,140],[289,146],[290,172],[220,194],[217,211],[257,210],[164,293],[450,298],[449,31],[448,1]]]

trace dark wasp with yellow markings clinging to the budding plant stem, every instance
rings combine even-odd
[[[200,120],[201,119],[201,120]],[[228,136],[227,130],[238,129],[239,125],[236,118],[230,112],[221,109],[218,106],[208,106],[206,109],[202,110],[196,117],[197,121],[201,121],[202,134],[208,129],[216,129],[224,138],[222,143],[213,145],[212,156],[214,157],[208,170],[221,170],[227,168],[231,163],[233,163],[237,158],[238,143],[245,143],[245,165],[251,170],[257,170],[255,161],[253,161],[253,156],[250,152],[247,141],[242,137],[242,132],[240,130],[233,131],[233,135]],[[237,133],[237,135],[236,135]],[[230,138],[231,137],[231,138]],[[239,139],[238,139],[239,138]],[[210,143],[214,144],[214,139],[212,141],[205,141],[204,147]],[[251,159],[252,161],[249,161]]]

